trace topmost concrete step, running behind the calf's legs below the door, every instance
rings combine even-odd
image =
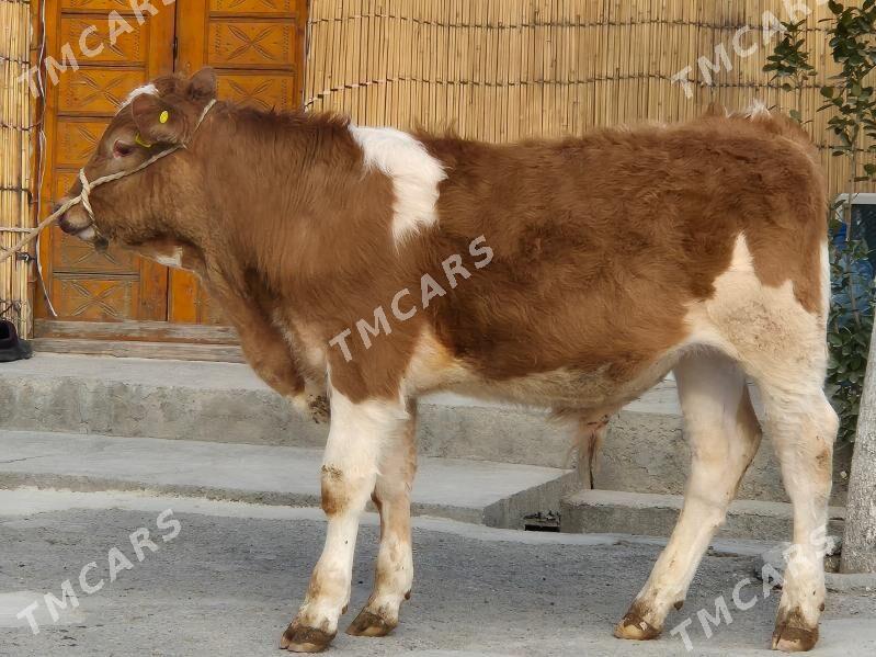
[[[420,400],[424,456],[570,466],[570,434],[543,409],[433,395]],[[218,443],[321,448],[327,428],[291,409],[244,364],[37,354],[0,364],[0,429]],[[612,420],[599,456],[603,489],[680,495],[690,452],[674,382],[658,384]],[[833,503],[844,503],[851,450],[834,458]],[[787,501],[769,439],[739,497]]]

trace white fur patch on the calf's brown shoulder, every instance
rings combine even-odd
[[[437,223],[435,204],[439,183],[447,174],[439,160],[429,155],[422,141],[391,127],[350,126],[350,133],[365,155],[365,166],[376,167],[393,181],[393,239]]]

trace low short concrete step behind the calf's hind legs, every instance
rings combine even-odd
[[[564,497],[560,505],[564,532],[618,533],[668,537],[675,526],[683,497],[617,490],[581,490]],[[828,530],[842,535],[845,509],[831,507]],[[789,503],[737,500],[718,535],[725,539],[788,541],[792,536]]]

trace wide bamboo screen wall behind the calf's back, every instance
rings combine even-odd
[[[788,110],[796,95],[762,72],[780,38],[764,38],[764,15],[787,21],[786,5],[806,5],[819,76],[800,110],[838,192],[847,189],[845,158],[830,157],[829,114],[817,111],[819,87],[835,72],[820,2],[312,0],[305,105],[360,124],[453,127],[491,141],[685,120],[712,101],[741,110],[759,99]],[[705,67],[708,86],[698,59],[716,66],[716,47],[727,58],[718,72]],[[692,98],[672,81],[687,66]]]

